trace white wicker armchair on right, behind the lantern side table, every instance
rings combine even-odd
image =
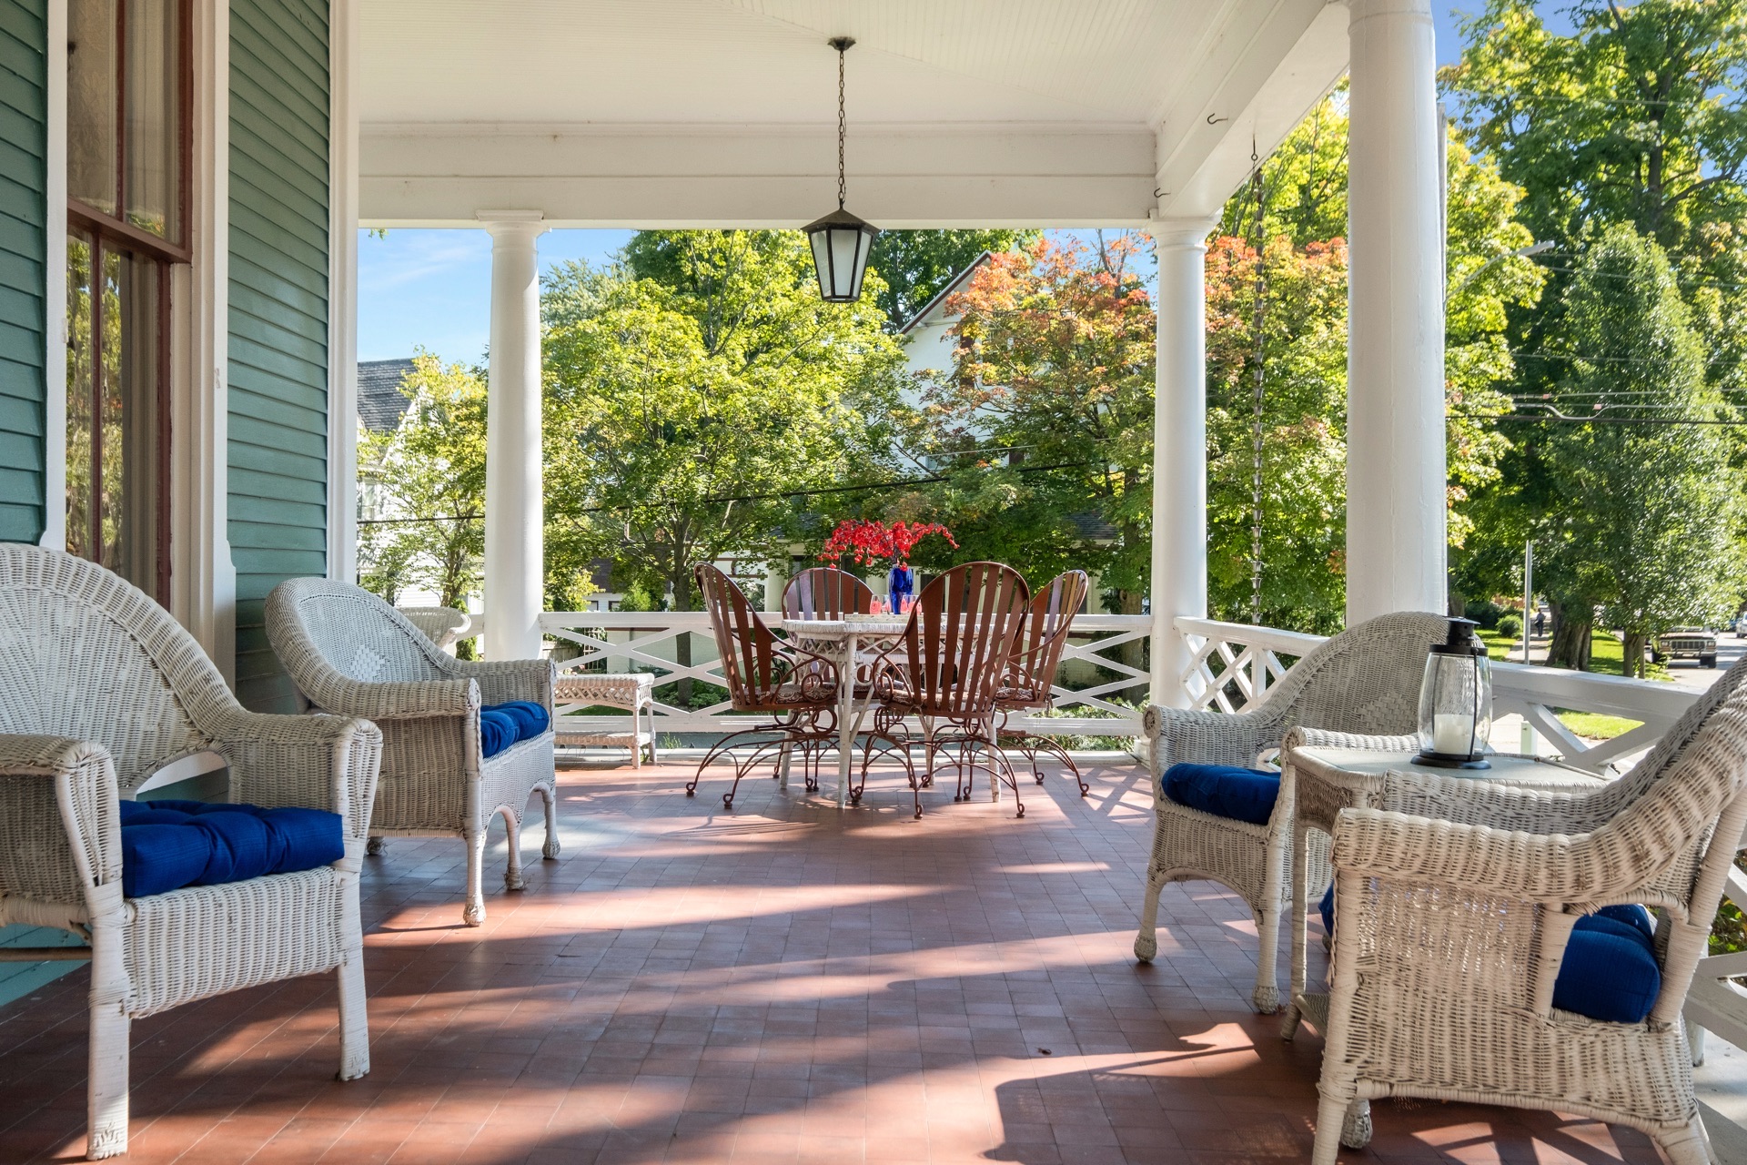
[[[1293,842],[1289,776],[1282,776],[1268,823],[1251,824],[1169,800],[1162,791],[1165,769],[1179,762],[1254,765],[1298,725],[1364,737],[1413,732],[1426,653],[1433,643],[1443,643],[1448,627],[1441,615],[1380,615],[1312,650],[1251,711],[1202,713],[1157,704],[1146,709],[1158,821],[1141,933],[1134,940],[1139,961],[1150,962],[1158,954],[1158,894],[1167,884],[1219,882],[1242,896],[1256,919],[1260,950],[1251,1003],[1265,1015],[1279,1008],[1275,962]],[[1310,866],[1312,877],[1328,877],[1326,856],[1312,854]]]

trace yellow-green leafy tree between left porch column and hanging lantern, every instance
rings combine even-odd
[[[898,344],[870,299],[819,300],[798,232],[646,231],[547,297],[554,545],[615,585],[692,610],[694,562],[777,554],[805,491],[889,475]]]

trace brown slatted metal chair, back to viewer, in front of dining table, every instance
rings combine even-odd
[[[996,744],[996,692],[1019,641],[1031,590],[1012,566],[964,562],[922,587],[910,610],[903,638],[872,672],[875,693],[896,720],[922,721],[926,776],[910,774],[915,816],[922,816],[922,784],[929,784],[935,753],[957,746],[954,802],[970,800],[971,774],[989,772],[989,791],[1001,795],[1001,782],[1013,789],[1017,816],[1025,816],[1019,781]],[[940,732],[945,728],[945,734]],[[867,781],[868,758],[861,762]],[[978,760],[980,758],[980,760]]]

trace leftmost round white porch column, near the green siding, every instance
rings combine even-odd
[[[480,211],[491,234],[486,412],[486,658],[540,655],[545,494],[540,475],[540,211]]]

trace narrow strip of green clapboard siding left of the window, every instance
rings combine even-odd
[[[49,0],[0,0],[0,541],[44,522]]]

